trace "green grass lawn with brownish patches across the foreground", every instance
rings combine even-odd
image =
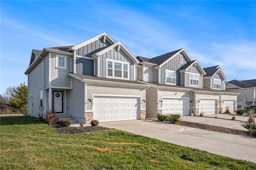
[[[256,164],[110,129],[58,134],[26,116],[0,117],[0,169],[255,169]],[[124,142],[124,143],[122,143]],[[118,144],[122,143],[122,144]]]

